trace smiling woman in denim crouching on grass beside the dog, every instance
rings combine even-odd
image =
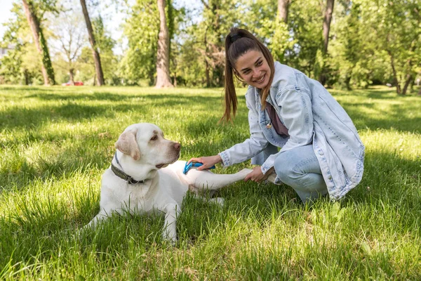
[[[189,160],[207,169],[252,159],[245,181],[290,185],[302,202],[329,194],[339,200],[363,176],[364,146],[352,120],[314,79],[274,62],[247,30],[233,28],[225,39],[225,121],[237,108],[234,75],[246,82],[250,138],[218,155]],[[233,75],[234,74],[234,75]],[[280,148],[280,149],[279,149]]]

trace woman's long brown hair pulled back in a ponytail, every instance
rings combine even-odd
[[[241,81],[239,73],[235,70],[235,63],[238,58],[250,50],[260,51],[267,63],[269,64],[271,73],[269,83],[261,92],[262,109],[265,109],[266,98],[269,95],[269,89],[274,79],[274,58],[269,49],[262,44],[253,34],[247,30],[233,27],[225,38],[225,112],[221,120],[225,122],[234,119],[237,109],[237,98],[234,86],[234,75],[236,79]],[[232,117],[231,117],[232,112]]]

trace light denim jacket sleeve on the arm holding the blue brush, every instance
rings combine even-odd
[[[243,143],[238,143],[218,155],[222,158],[223,166],[244,162],[251,157],[258,155],[267,145],[267,139],[260,129],[258,110],[255,108],[253,91],[246,93],[246,105],[248,107],[248,125],[250,126],[250,138]]]

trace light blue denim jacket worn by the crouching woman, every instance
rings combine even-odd
[[[249,86],[246,92],[250,138],[219,153],[224,166],[253,158],[252,163],[262,165],[266,174],[280,153],[312,143],[332,200],[339,200],[361,181],[364,145],[347,112],[318,81],[275,63],[266,102],[290,136],[280,136],[267,126],[271,120],[262,110],[259,91]],[[277,177],[276,182],[280,183]]]

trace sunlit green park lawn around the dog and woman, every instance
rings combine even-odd
[[[157,124],[182,159],[214,155],[248,138],[240,92],[234,126],[219,126],[222,89],[0,86],[0,280],[420,280],[421,99],[382,87],[332,91],[366,145],[340,202],[241,182],[222,208],[187,197],[175,247],[161,215],[76,235],[126,126]]]

